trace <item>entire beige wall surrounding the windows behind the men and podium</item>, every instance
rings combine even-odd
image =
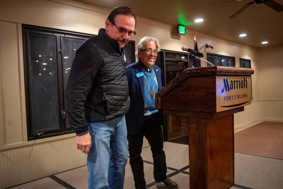
[[[99,28],[105,27],[110,12],[73,0],[55,1],[0,1],[0,188],[85,164],[85,155],[74,150],[74,134],[27,141],[21,24],[97,34]],[[177,35],[175,29],[172,25],[138,17],[138,34],[132,40],[137,44],[142,37],[149,35],[160,40],[162,49],[181,51],[183,45],[193,48],[193,31]],[[236,131],[263,119],[283,121],[283,86],[279,82],[283,73],[282,46],[271,50],[258,49],[198,32],[196,35],[200,52],[233,56],[236,66],[239,66],[239,58],[251,59],[251,67],[255,70],[252,76],[253,101],[244,112],[235,114]],[[214,48],[205,48],[205,43]],[[64,150],[65,147],[68,150]],[[50,157],[51,154],[58,157]],[[49,161],[50,158],[53,161]],[[34,160],[36,163],[32,164]],[[33,166],[32,170],[30,166]]]

